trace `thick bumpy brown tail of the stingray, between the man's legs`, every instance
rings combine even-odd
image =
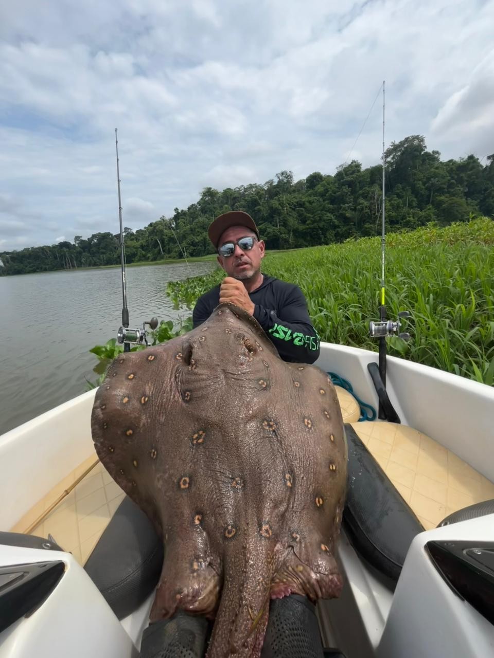
[[[225,551],[225,579],[207,658],[259,656],[269,615],[273,542],[246,542]]]

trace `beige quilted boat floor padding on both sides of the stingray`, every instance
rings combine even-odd
[[[353,422],[356,432],[412,507],[424,528],[447,515],[494,498],[494,484],[431,438],[404,425]],[[24,532],[96,459],[96,453],[70,473],[11,530]],[[97,466],[51,511],[32,534],[53,538],[84,565],[124,492]]]

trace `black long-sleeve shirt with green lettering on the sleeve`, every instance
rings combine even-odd
[[[254,317],[278,350],[283,361],[314,363],[319,357],[319,336],[312,326],[302,290],[274,276],[264,275],[259,288],[249,293]],[[219,286],[202,295],[194,307],[194,329],[205,322],[219,304]]]

